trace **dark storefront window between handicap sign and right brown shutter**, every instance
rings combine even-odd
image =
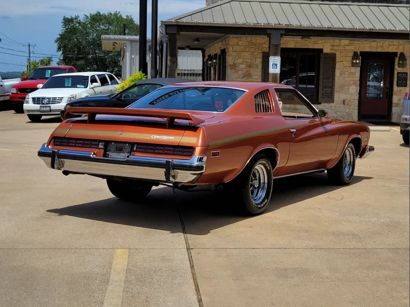
[[[279,81],[301,92],[310,102],[318,101],[319,78],[318,51],[281,51]]]

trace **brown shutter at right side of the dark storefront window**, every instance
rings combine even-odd
[[[322,53],[320,56],[319,102],[334,102],[336,53]]]

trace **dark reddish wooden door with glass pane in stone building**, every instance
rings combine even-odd
[[[389,59],[364,58],[361,75],[361,119],[388,120],[389,87]]]

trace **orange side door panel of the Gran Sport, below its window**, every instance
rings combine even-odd
[[[323,169],[336,151],[337,127],[324,117],[287,119],[291,133],[289,159],[278,176]]]

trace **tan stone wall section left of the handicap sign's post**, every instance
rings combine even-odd
[[[262,52],[269,51],[269,39],[263,36],[228,36],[209,46],[205,57],[226,49],[226,80],[260,82]]]

